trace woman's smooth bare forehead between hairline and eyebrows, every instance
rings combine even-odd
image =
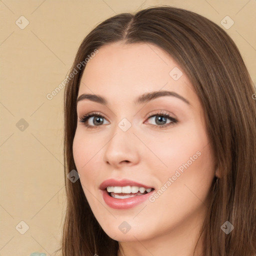
[[[173,79],[173,72],[180,77]],[[160,47],[151,43],[115,42],[100,47],[86,64],[78,95],[95,93],[110,102],[119,99],[122,103],[156,90],[191,97],[191,87],[181,67]]]

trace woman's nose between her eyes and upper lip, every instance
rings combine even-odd
[[[113,130],[104,152],[104,161],[113,168],[124,164],[133,165],[139,161],[138,138],[134,135],[132,126],[123,131],[118,125]]]

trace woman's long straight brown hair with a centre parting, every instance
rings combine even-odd
[[[76,98],[86,61],[111,42],[153,43],[183,68],[204,109],[207,134],[220,178],[212,183],[211,200],[201,228],[204,256],[251,256],[256,253],[256,100],[255,88],[233,40],[218,25],[194,12],[149,7],[115,15],[97,25],[82,41],[64,93],[64,159],[67,208],[62,256],[116,256],[118,242],[95,219],[76,169],[72,143]],[[75,71],[74,71],[75,70]],[[72,76],[72,77],[71,77]],[[226,234],[221,225],[234,229]]]

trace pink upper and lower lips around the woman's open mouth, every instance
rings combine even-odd
[[[100,188],[100,192],[102,194],[102,197],[105,201],[105,203],[114,209],[128,209],[131,208],[143,201],[145,201],[154,191],[154,189],[152,191],[150,191],[149,193],[143,194],[143,195],[136,195],[136,196],[132,196],[129,198],[124,198],[124,199],[119,199],[119,198],[114,198],[112,196],[110,196],[108,194],[108,192],[106,191],[106,187],[107,186],[126,186],[126,185],[130,185],[130,186],[138,186],[138,187],[144,187],[144,188],[153,188],[129,179],[122,179],[122,180],[115,180],[115,179],[107,179],[105,181],[103,181],[99,188]]]

